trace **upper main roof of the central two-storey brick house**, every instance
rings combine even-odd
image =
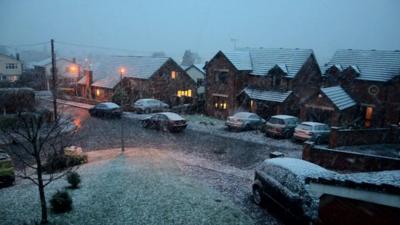
[[[223,52],[238,70],[250,70],[253,75],[267,75],[275,66],[293,78],[313,54],[312,49],[249,48]]]

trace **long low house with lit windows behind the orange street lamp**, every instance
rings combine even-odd
[[[109,101],[122,85],[131,102],[156,98],[171,105],[193,102],[196,83],[173,59],[167,57],[115,56],[101,59],[79,80],[79,94],[98,101]],[[125,69],[122,84],[120,68]]]

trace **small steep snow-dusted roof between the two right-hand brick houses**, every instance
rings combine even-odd
[[[321,88],[321,91],[339,110],[344,110],[356,105],[356,102],[340,86]]]

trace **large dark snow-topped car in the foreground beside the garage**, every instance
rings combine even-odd
[[[253,200],[258,205],[276,205],[296,221],[309,223],[318,217],[318,198],[307,191],[305,179],[332,174],[301,159],[267,159],[255,170]]]

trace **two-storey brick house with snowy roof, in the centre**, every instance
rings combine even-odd
[[[221,118],[239,110],[298,116],[321,81],[311,49],[219,51],[205,70],[206,112]]]

